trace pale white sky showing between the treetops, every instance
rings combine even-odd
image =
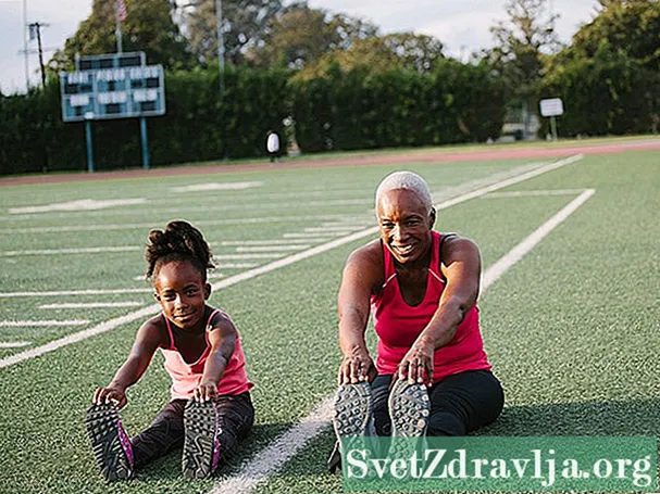
[[[0,0],[0,90],[5,94],[25,91],[24,5],[28,24],[48,24],[41,31],[47,62],[89,16],[91,3],[92,0]],[[308,3],[371,21],[384,34],[412,30],[435,36],[444,43],[446,54],[459,58],[491,47],[489,27],[507,17],[506,0],[309,0]],[[594,18],[598,2],[549,0],[549,4],[560,15],[556,26],[560,39],[569,42],[581,25]],[[29,80],[36,85],[40,80],[37,41],[29,41],[27,49]]]

